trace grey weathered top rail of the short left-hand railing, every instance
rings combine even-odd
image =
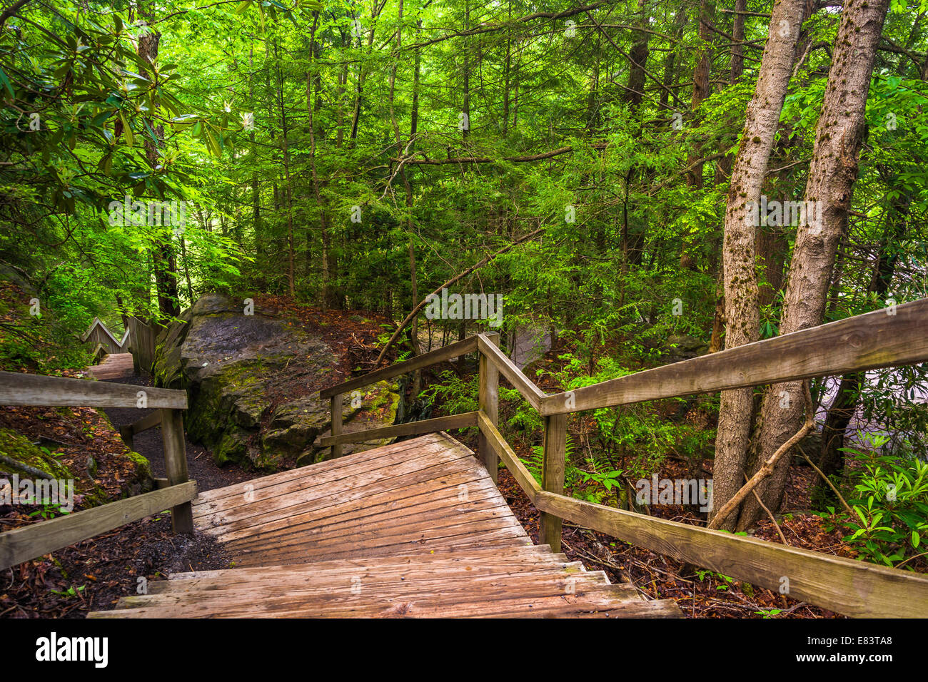
[[[141,405],[143,402],[144,405]],[[124,383],[0,372],[0,405],[145,406],[187,409],[187,392]]]

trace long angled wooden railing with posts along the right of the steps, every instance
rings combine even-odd
[[[561,521],[573,521],[676,560],[849,616],[928,616],[928,576],[787,547],[753,537],[666,521],[563,495],[567,415],[702,392],[928,361],[928,299],[848,317],[838,322],[703,355],[573,392],[547,395],[497,348],[498,335],[479,334],[321,391],[332,407],[332,435],[319,443],[341,445],[477,426],[478,455],[496,481],[497,457],[541,511],[539,543],[561,550]],[[480,409],[372,431],[342,433],[342,394],[428,367],[461,354],[480,354]],[[525,468],[497,429],[498,375],[502,374],[544,418],[542,483]],[[336,449],[338,448],[338,449]],[[784,581],[784,578],[787,579]]]

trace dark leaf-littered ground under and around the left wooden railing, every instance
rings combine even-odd
[[[150,385],[149,380],[138,377],[119,382]],[[113,457],[113,453],[126,449],[119,427],[137,420],[138,410],[103,410],[112,429],[89,407],[71,408],[73,417],[42,407],[0,410],[0,425],[30,438],[48,438],[47,434],[51,434],[61,443],[56,449],[61,450],[59,458],[63,462],[93,457],[97,462],[94,482],[107,491],[108,500],[122,496],[126,473],[121,462],[125,460]],[[92,436],[80,437],[82,433]],[[161,429],[137,434],[133,444],[135,452],[148,459],[152,475],[163,477]],[[220,469],[208,451],[189,441],[187,464],[190,478],[200,490],[259,475],[238,467]],[[75,499],[75,511],[80,508],[80,500]],[[32,516],[38,509],[32,505],[0,507],[0,524],[8,530],[43,521],[39,515]],[[142,593],[147,581],[163,579],[170,573],[209,571],[229,565],[229,557],[211,536],[175,535],[170,513],[163,512],[0,573],[0,617],[83,618],[88,611],[110,609],[120,597]]]

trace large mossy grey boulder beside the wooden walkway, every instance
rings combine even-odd
[[[209,294],[161,333],[154,370],[160,385],[187,389],[187,433],[217,463],[277,470],[327,455],[313,445],[330,428],[329,401],[319,401],[318,390],[337,363],[329,344],[294,320],[257,307],[245,315],[243,303]],[[346,421],[393,423],[394,386],[381,382],[360,400],[345,398]]]

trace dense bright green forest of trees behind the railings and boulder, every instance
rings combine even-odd
[[[77,334],[261,294],[387,320],[365,371],[496,331],[570,391],[928,296],[926,52],[925,0],[7,0],[0,267]],[[28,329],[0,348],[68,365]],[[676,463],[717,511],[814,410],[820,473],[797,449],[713,526],[805,508],[924,571],[925,380],[572,415],[567,485],[640,510]],[[476,382],[406,391],[452,413]],[[537,471],[541,418],[500,400]]]

